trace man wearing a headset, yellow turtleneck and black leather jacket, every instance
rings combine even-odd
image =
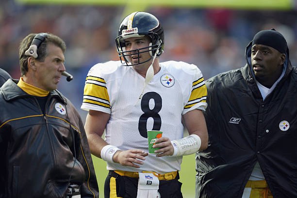
[[[22,76],[0,88],[0,198],[99,197],[82,119],[56,90],[65,49],[56,35],[29,34]]]

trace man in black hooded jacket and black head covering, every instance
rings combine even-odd
[[[254,36],[246,58],[206,81],[196,198],[297,198],[297,69],[274,29]]]

